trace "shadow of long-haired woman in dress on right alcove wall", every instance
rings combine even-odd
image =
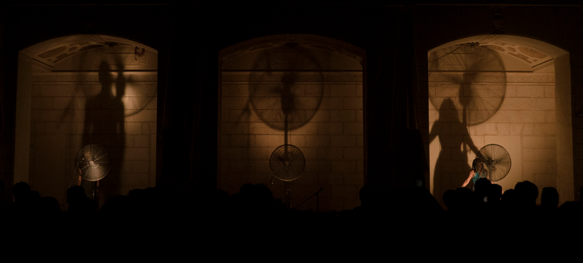
[[[443,100],[439,107],[439,118],[431,128],[429,143],[437,137],[441,150],[433,172],[433,196],[441,197],[443,192],[459,188],[471,170],[466,145],[474,154],[478,153],[450,98]]]

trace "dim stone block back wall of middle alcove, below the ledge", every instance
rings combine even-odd
[[[285,143],[301,149],[305,170],[289,183],[294,208],[320,188],[319,210],[346,210],[360,206],[358,191],[364,184],[362,73],[298,73],[292,87],[294,100],[305,107],[298,119],[283,125],[266,120],[266,111],[280,114],[279,96],[253,102],[250,93],[261,87],[280,87],[279,82],[250,81],[252,73],[223,71],[219,134],[219,189],[239,192],[244,183],[265,183],[276,199],[285,203],[286,184],[273,177],[269,159]],[[284,73],[281,73],[284,74]],[[304,118],[303,116],[312,116]],[[260,117],[263,116],[263,117]],[[285,138],[287,134],[287,139]],[[315,197],[298,210],[316,210]]]

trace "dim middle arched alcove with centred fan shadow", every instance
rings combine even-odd
[[[221,51],[219,189],[264,183],[286,202],[286,184],[270,166],[280,145],[305,156],[289,182],[291,207],[345,210],[360,205],[364,184],[364,51],[315,35],[272,35]],[[285,169],[285,168],[281,168]]]

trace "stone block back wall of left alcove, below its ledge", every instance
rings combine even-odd
[[[120,82],[108,87],[99,74],[33,73],[30,183],[61,204],[75,155],[92,143],[111,156],[110,173],[99,187],[103,200],[155,186],[157,74],[106,73],[114,80],[124,76],[123,94],[115,94]]]

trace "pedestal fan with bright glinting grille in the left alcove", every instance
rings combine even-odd
[[[110,155],[101,145],[90,144],[81,147],[75,155],[75,171],[71,186],[81,176],[81,180],[93,183],[92,196],[96,196],[96,182],[110,171]]]

